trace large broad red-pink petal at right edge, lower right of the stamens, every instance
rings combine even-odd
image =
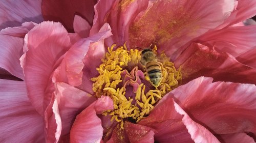
[[[256,87],[200,77],[171,92],[191,119],[215,134],[256,133]]]

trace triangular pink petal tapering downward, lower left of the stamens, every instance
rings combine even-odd
[[[63,82],[56,83],[56,97],[62,121],[62,135],[70,132],[78,113],[96,100],[92,95]]]

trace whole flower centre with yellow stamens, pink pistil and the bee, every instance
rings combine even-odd
[[[108,47],[97,68],[99,76],[91,80],[97,98],[110,96],[114,102],[114,109],[103,115],[112,116],[111,120],[121,122],[123,127],[125,120],[138,122],[149,115],[166,93],[178,87],[182,78],[180,68],[176,70],[164,53],[157,56],[156,46],[143,51],[127,50],[125,44],[116,50],[114,47]]]

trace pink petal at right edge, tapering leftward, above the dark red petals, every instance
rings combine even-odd
[[[217,51],[228,52],[234,57],[256,45],[256,25],[232,26],[211,32],[199,38],[202,44],[215,46]]]

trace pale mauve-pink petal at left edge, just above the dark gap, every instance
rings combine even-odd
[[[19,58],[23,54],[23,38],[0,34],[0,68],[12,75],[24,79]]]

